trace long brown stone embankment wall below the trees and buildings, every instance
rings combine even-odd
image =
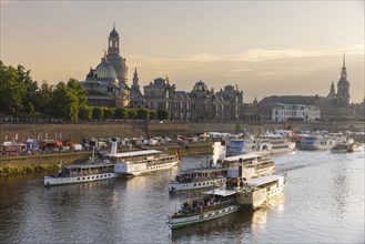
[[[354,123],[268,123],[268,124],[240,124],[241,131],[246,130],[253,134],[273,130],[294,131],[327,130],[331,132],[365,131],[365,124]],[[69,123],[69,124],[1,124],[0,142],[4,136],[11,140],[16,134],[18,139],[29,136],[37,139],[60,139],[82,142],[83,138],[138,138],[138,136],[173,136],[204,132],[234,132],[235,123],[149,123],[149,122],[101,122],[101,123]]]

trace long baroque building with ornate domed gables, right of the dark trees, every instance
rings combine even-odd
[[[169,111],[171,120],[227,122],[243,120],[243,92],[232,85],[219,92],[197,81],[191,92],[176,91],[169,79],[155,79],[144,87],[149,109]]]

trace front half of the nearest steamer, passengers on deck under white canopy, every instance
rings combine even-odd
[[[240,210],[236,191],[215,189],[203,194],[202,199],[184,202],[181,210],[169,217],[170,228],[214,220]]]

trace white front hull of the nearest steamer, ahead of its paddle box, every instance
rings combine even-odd
[[[184,217],[170,217],[169,226],[170,228],[178,228],[186,226],[190,224],[196,224],[205,221],[211,221],[217,217],[225,216],[227,214],[237,212],[240,210],[239,205],[231,205],[215,211],[209,211],[201,214],[184,216]]]

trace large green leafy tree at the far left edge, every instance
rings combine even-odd
[[[23,109],[22,98],[27,93],[23,82],[19,82],[17,70],[0,61],[0,111],[16,114]]]

